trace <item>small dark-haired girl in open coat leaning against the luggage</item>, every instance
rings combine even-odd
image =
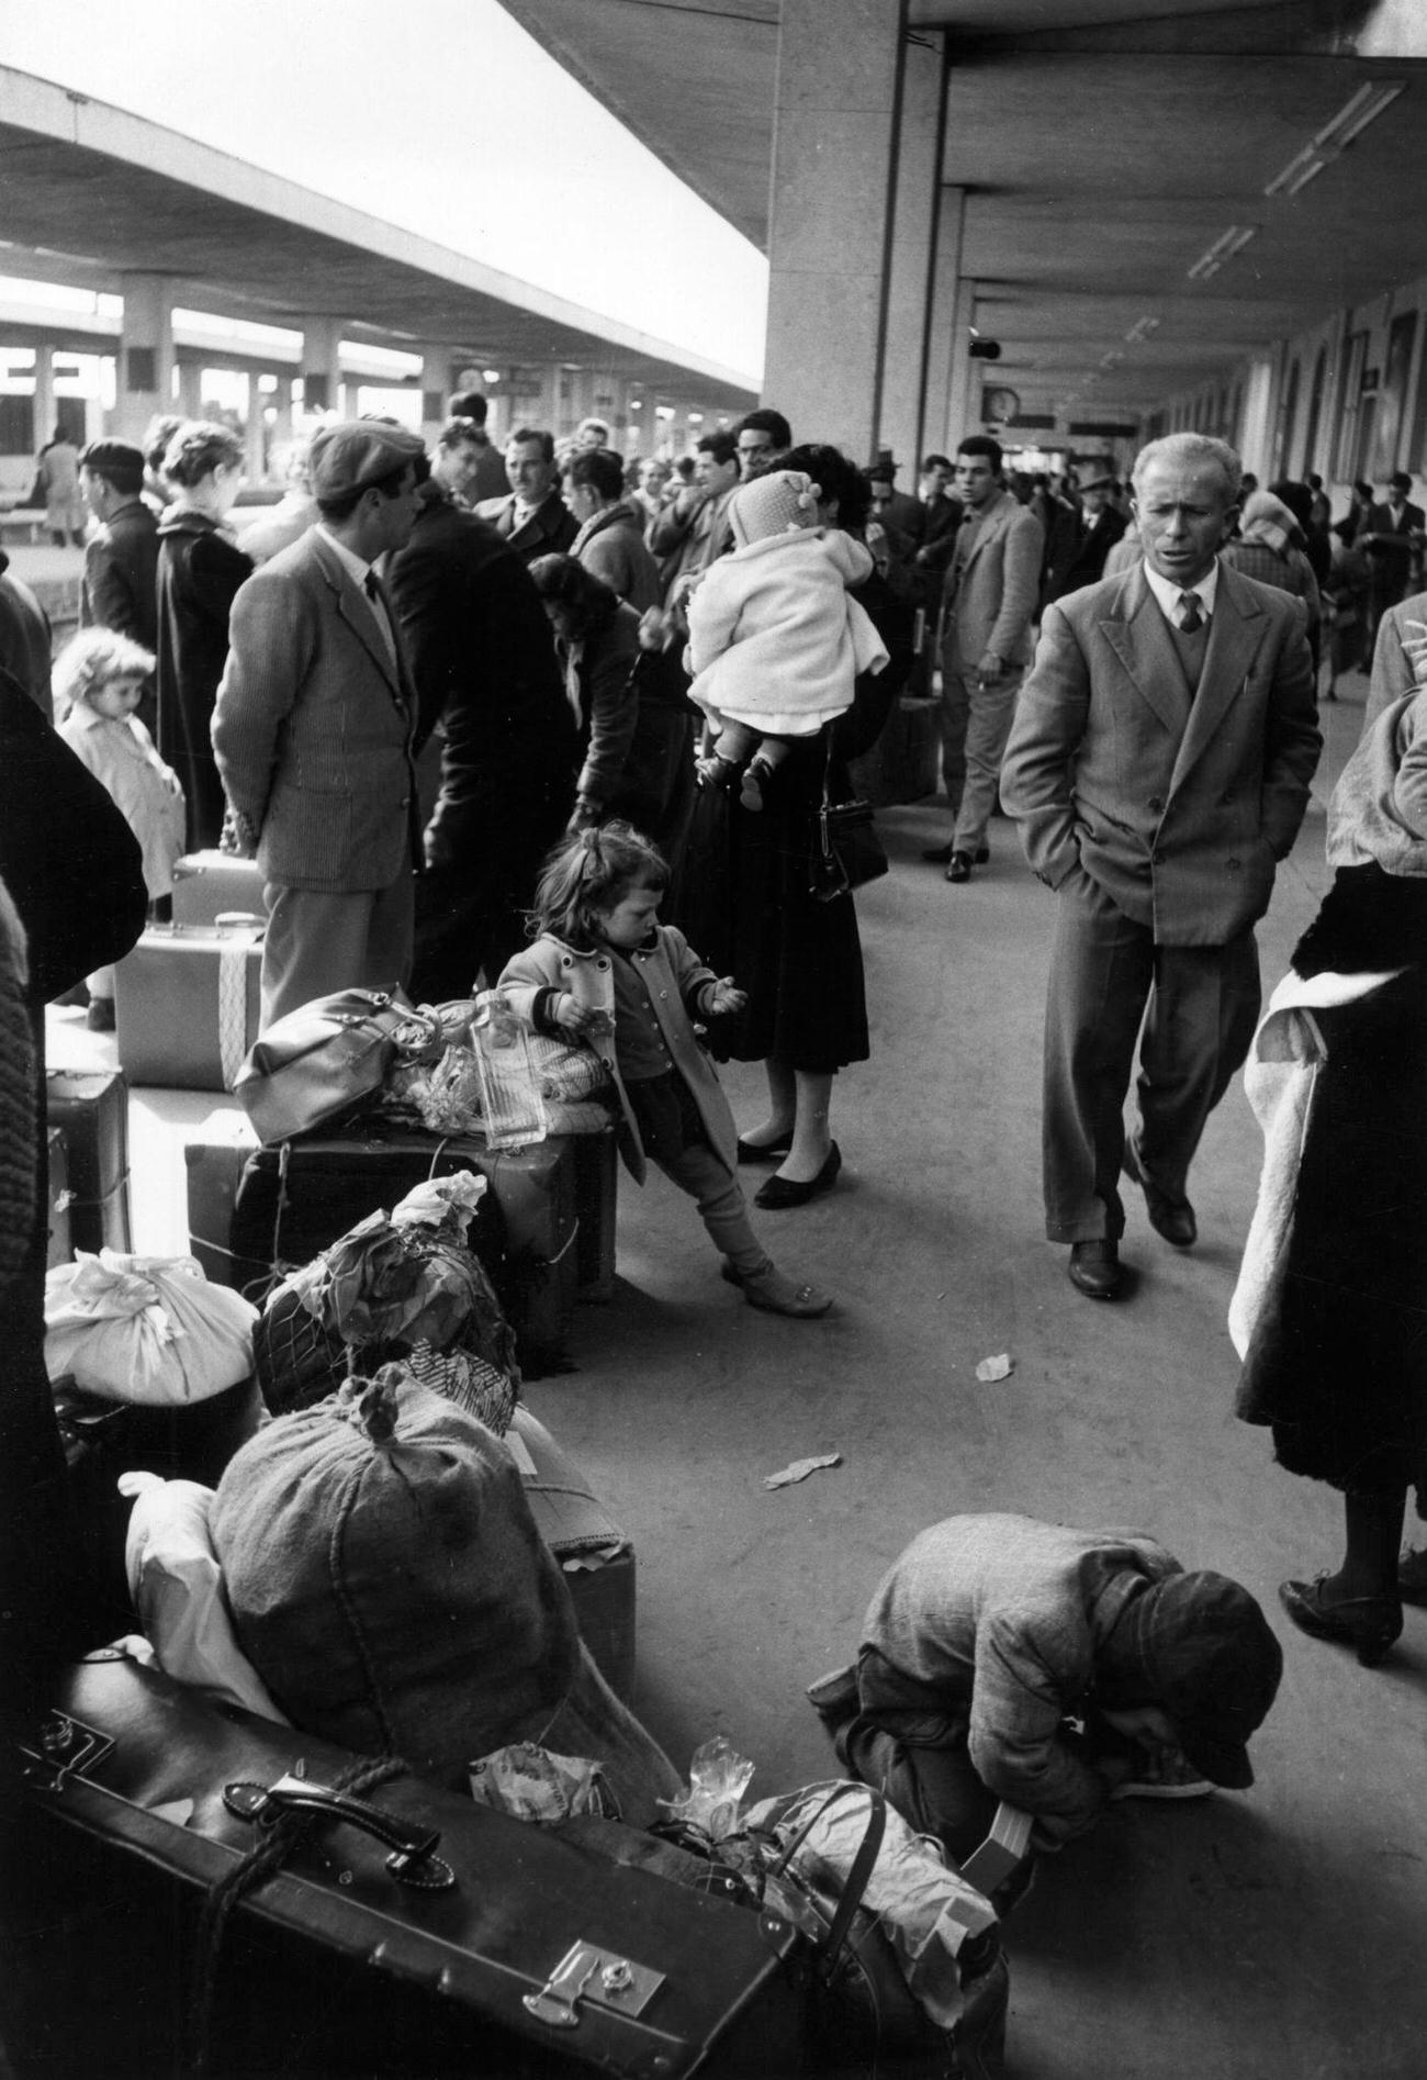
[[[743,1011],[747,996],[657,921],[670,869],[628,824],[572,832],[545,861],[535,944],[505,963],[499,990],[535,1032],[591,1048],[620,1098],[620,1152],[639,1184],[659,1165],[699,1202],[724,1277],[751,1306],[826,1315],[830,1294],[776,1269],[738,1188],[738,1136],[693,1019]]]

